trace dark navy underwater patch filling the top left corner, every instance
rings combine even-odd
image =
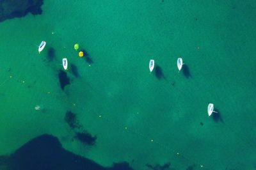
[[[0,22],[15,17],[24,17],[29,12],[33,15],[42,14],[44,0],[0,0]]]

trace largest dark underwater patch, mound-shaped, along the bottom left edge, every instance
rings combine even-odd
[[[88,158],[64,150],[52,135],[40,135],[21,146],[10,157],[0,157],[8,170],[132,170],[127,162],[103,167]]]

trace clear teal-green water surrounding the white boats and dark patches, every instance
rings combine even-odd
[[[254,1],[45,1],[42,15],[1,22],[0,155],[47,133],[102,166],[255,169],[255,7]],[[42,40],[47,45],[38,54]],[[178,72],[180,56],[189,77]],[[81,75],[68,70],[64,91],[63,57]],[[150,59],[161,77],[149,73]],[[207,115],[209,102],[220,112],[217,121]],[[72,141],[68,110],[97,135],[95,146]]]

